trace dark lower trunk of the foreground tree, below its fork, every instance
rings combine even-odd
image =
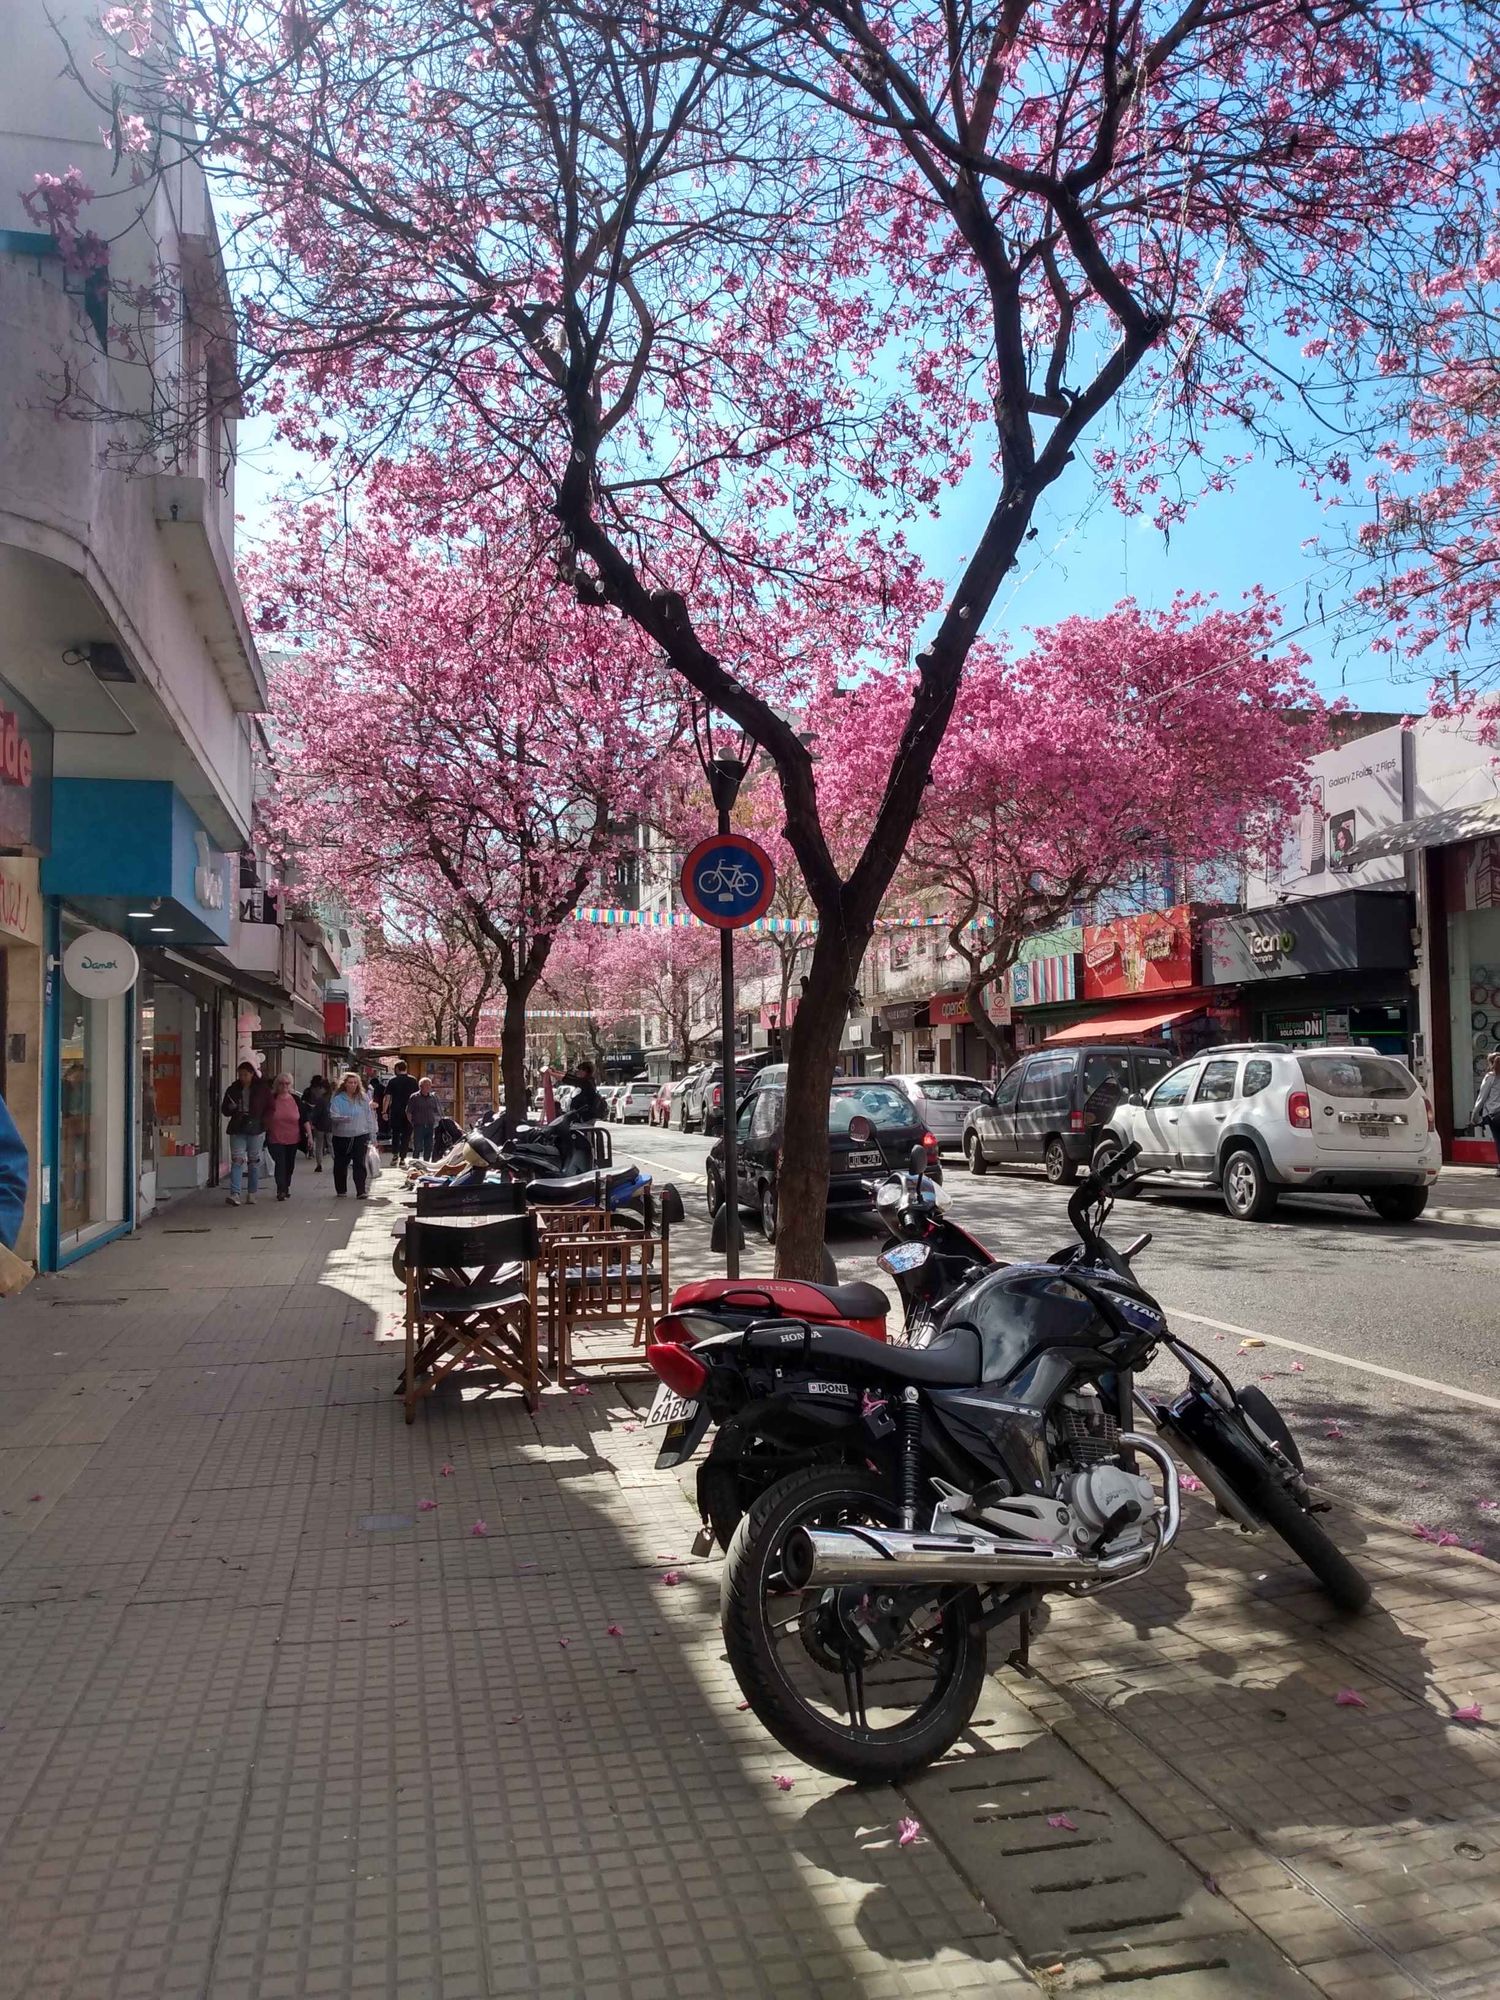
[[[792,1022],[786,1070],[776,1276],[818,1278],[828,1222],[828,1092],[848,1018],[848,996],[874,932],[822,920],[808,992]]]

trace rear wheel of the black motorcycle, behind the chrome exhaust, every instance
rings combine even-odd
[[[898,1520],[882,1480],[810,1468],[756,1500],[724,1560],[720,1622],[740,1692],[778,1744],[854,1784],[898,1784],[936,1762],[984,1686],[976,1590],[794,1590],[786,1580],[782,1554],[798,1528]]]

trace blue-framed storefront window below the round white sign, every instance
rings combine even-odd
[[[82,924],[64,920],[62,944]],[[58,1246],[124,1220],[128,996],[86,1000],[60,980]]]

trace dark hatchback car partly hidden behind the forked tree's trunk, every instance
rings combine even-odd
[[[740,1208],[760,1216],[766,1242],[776,1242],[776,1202],[782,1162],[782,1110],[786,1064],[752,1078],[734,1120],[738,1140]],[[904,1172],[912,1146],[926,1146],[928,1174],[942,1180],[938,1146],[910,1098],[874,1076],[834,1084],[828,1100],[828,1212],[860,1214],[874,1208],[874,1190],[892,1172]],[[724,1206],[724,1140],[708,1154],[708,1210]]]

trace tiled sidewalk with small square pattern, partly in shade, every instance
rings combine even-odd
[[[736,1706],[626,1396],[402,1424],[392,1212],[188,1200],[0,1306],[4,2000],[1500,1992],[1492,1566],[1366,1524],[1342,1626],[1194,1512],[856,1794]]]

